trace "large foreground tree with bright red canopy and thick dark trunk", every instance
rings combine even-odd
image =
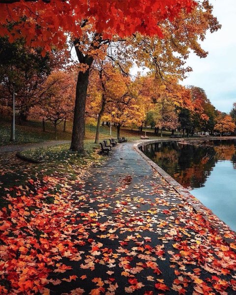
[[[192,48],[199,49],[198,37],[203,39],[207,29],[214,31],[219,28],[216,19],[212,17],[212,7],[208,1],[197,4],[192,0],[120,0],[105,1],[103,5],[99,5],[97,0],[82,0],[80,3],[74,0],[47,3],[20,1],[1,4],[1,8],[1,35],[9,36],[10,41],[24,37],[27,45],[40,46],[45,54],[55,45],[64,48],[68,36],[71,37],[71,44],[75,46],[81,65],[71,143],[71,149],[79,151],[83,150],[89,69],[94,59],[106,54],[111,41],[122,41],[124,37],[136,33],[165,39],[169,31],[172,36],[168,39],[174,41],[170,49],[176,51],[179,47],[179,52],[186,55],[190,45],[177,40],[178,31],[187,35],[185,40],[192,40]],[[10,26],[7,25],[9,23]],[[202,29],[199,24],[202,24]],[[176,38],[173,38],[175,34]],[[186,48],[180,48],[180,44]],[[113,56],[111,58],[114,59]],[[152,54],[152,60],[160,58],[160,55]],[[172,67],[175,67],[173,62]]]

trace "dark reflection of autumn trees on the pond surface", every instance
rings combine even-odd
[[[236,169],[236,140],[155,143],[143,151],[188,189],[203,187],[218,161],[231,161]]]

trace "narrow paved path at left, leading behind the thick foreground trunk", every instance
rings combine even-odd
[[[39,142],[39,143],[33,143],[33,144],[0,146],[0,153],[22,151],[22,150],[28,150],[30,148],[57,146],[57,145],[69,144],[69,143],[70,143],[69,140],[60,140],[60,141],[53,140],[53,141]]]

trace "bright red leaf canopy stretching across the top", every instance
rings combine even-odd
[[[0,0],[0,36],[24,37],[28,46],[44,52],[54,45],[62,48],[68,34],[80,37],[88,22],[104,38],[137,31],[161,37],[161,21],[172,21],[195,5],[194,0]]]

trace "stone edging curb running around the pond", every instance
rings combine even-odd
[[[154,163],[151,159],[149,159],[139,148],[147,146],[149,144],[154,143],[161,143],[161,142],[181,142],[181,141],[189,141],[192,140],[227,140],[227,139],[236,139],[236,137],[201,137],[201,138],[194,138],[194,139],[157,139],[157,140],[148,140],[148,141],[142,141],[139,143],[136,143],[133,147],[134,149],[148,162],[148,164],[156,170],[174,189],[175,191],[182,195],[186,201],[193,207],[194,211],[196,213],[202,214],[203,218],[210,224],[210,226],[216,230],[220,236],[223,238],[223,240],[229,245],[230,243],[234,243],[235,239],[233,238],[226,238],[224,236],[225,233],[225,227],[228,231],[233,233],[234,236],[236,236],[236,232],[233,231],[224,221],[220,220],[218,216],[216,216],[210,209],[208,209],[205,205],[201,203],[200,200],[198,200],[196,197],[194,197],[186,188],[184,188],[181,184],[179,184],[173,177],[171,177],[168,173],[166,173],[161,167],[159,167],[156,163]],[[212,217],[216,217],[216,220],[219,220],[217,222],[214,218],[214,221],[217,223],[217,226],[212,224],[212,221],[208,218],[207,215],[209,215],[209,212]],[[236,249],[231,248],[235,253]]]

